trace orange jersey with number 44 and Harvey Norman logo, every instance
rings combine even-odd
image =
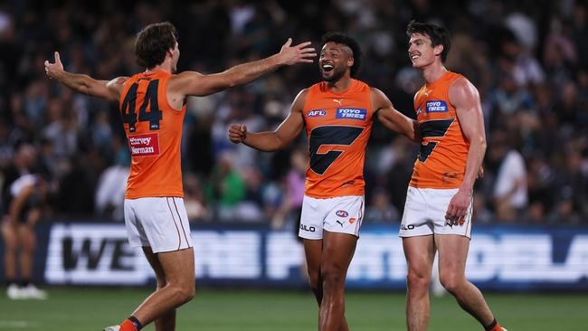
[[[149,71],[124,84],[120,115],[132,156],[125,198],[184,196],[180,142],[185,106],[167,101],[170,72]]]

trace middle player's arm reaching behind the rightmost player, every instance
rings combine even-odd
[[[384,125],[395,132],[401,133],[414,142],[421,142],[421,137],[416,129],[417,122],[394,109],[390,99],[378,89],[372,88],[372,108],[375,109],[375,117]]]

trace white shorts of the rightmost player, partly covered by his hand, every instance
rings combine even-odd
[[[404,204],[400,237],[431,234],[459,234],[471,238],[471,214],[473,202],[469,203],[466,216],[460,222],[445,220],[445,213],[457,188],[437,189],[408,186]]]

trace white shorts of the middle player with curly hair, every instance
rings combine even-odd
[[[323,239],[323,230],[359,237],[364,220],[364,196],[337,196],[317,199],[305,195],[300,215],[299,237]]]

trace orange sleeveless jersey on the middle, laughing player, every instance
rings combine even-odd
[[[308,88],[303,114],[310,153],[306,195],[364,195],[365,145],[373,123],[370,94],[359,80],[351,80],[342,92],[329,90],[324,81]]]

